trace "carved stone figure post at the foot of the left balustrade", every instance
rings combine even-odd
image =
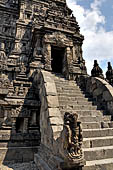
[[[64,115],[65,144],[64,149],[70,161],[83,159],[82,129],[77,113],[66,112]]]

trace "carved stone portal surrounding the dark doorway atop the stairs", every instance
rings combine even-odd
[[[86,74],[86,69],[81,69],[81,65],[85,66],[81,50],[83,37],[80,37],[78,43],[75,42],[72,35],[69,36],[59,30],[51,31],[51,33],[45,31],[41,35],[42,42],[37,40],[34,54],[36,54],[36,49],[37,54],[40,51],[39,54],[42,56],[40,60],[44,60],[42,64],[46,70],[61,73],[68,78],[69,75]],[[39,38],[39,36],[37,37]],[[36,56],[38,58],[38,55]]]

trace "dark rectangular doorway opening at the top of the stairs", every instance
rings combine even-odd
[[[62,73],[65,48],[51,47],[51,68],[55,73]]]

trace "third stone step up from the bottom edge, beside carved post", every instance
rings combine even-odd
[[[83,148],[93,148],[113,145],[113,136],[84,138]]]

